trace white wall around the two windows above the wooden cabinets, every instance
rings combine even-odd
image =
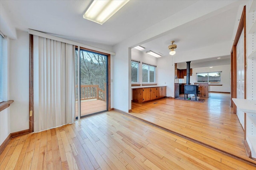
[[[132,49],[132,56],[131,56],[132,60],[136,60],[136,61],[140,61],[139,64],[139,82],[136,84],[142,84],[142,63],[147,63],[147,64],[152,64],[157,66],[157,58],[147,55],[145,53],[145,51],[138,51],[136,49]],[[156,76],[157,76],[157,69],[158,67],[156,67]],[[156,83],[157,80],[156,80]],[[144,83],[146,84],[146,83]]]

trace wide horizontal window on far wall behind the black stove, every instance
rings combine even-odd
[[[210,82],[211,84],[220,84],[221,71],[196,73],[196,78],[197,78],[197,82]]]

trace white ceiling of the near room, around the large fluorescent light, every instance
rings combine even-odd
[[[195,1],[130,0],[106,23],[83,18],[91,0],[1,0],[17,29],[115,45]]]

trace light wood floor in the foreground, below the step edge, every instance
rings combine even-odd
[[[0,169],[253,170],[215,150],[110,111],[12,138]]]

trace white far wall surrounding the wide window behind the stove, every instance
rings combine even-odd
[[[230,92],[230,64],[222,65],[222,66],[214,66],[210,67],[201,67],[201,68],[193,68],[193,74],[190,76],[190,83],[194,84],[196,82],[196,73],[200,72],[218,72],[221,73],[221,84],[222,86],[210,86],[211,92]]]

